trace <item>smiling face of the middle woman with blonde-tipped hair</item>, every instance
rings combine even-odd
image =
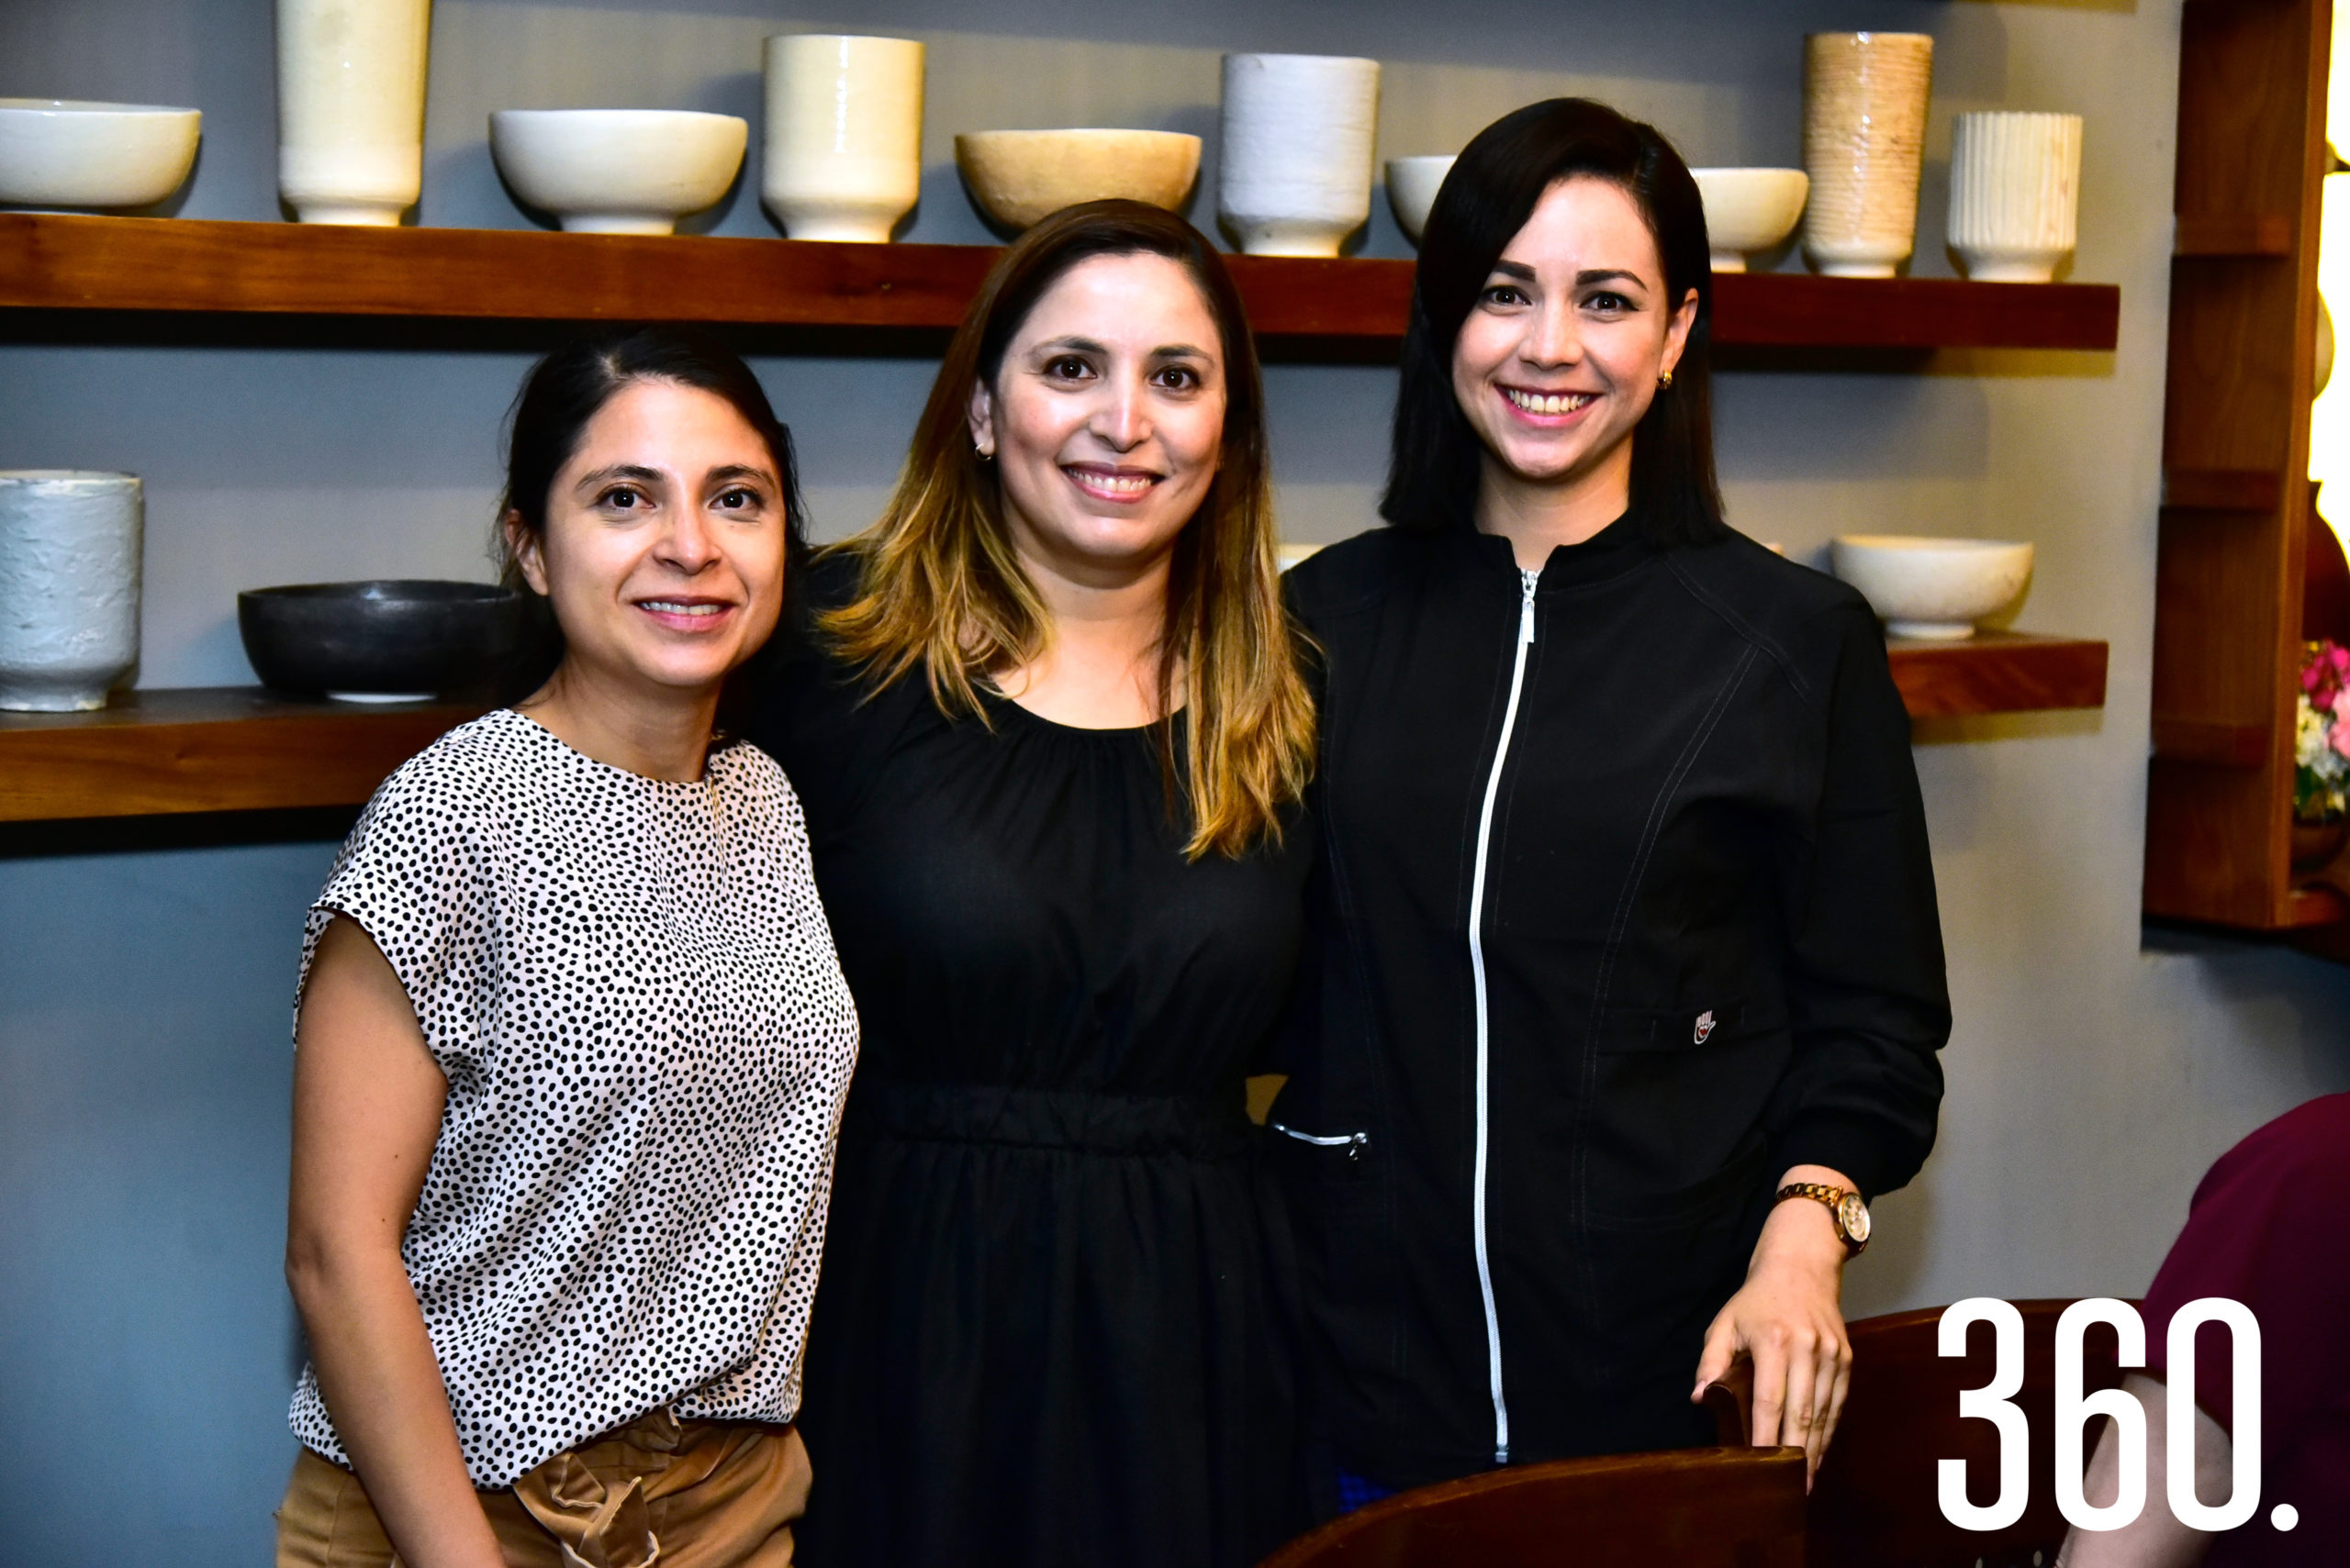
[[[1222,336],[1191,275],[1152,254],[1069,268],[973,387],[971,439],[1029,563],[1069,582],[1163,566],[1224,439]]]

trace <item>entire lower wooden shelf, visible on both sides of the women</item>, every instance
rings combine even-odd
[[[1918,718],[2106,699],[2106,643],[1983,631],[1889,650]],[[0,714],[0,822],[360,805],[392,768],[479,711],[209,685],[129,692],[96,714]]]

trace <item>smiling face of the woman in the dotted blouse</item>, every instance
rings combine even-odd
[[[555,474],[545,538],[517,516],[508,538],[555,603],[569,667],[707,692],[776,629],[785,521],[776,458],[733,404],[637,380]]]

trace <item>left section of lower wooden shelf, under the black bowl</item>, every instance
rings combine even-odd
[[[479,711],[209,685],[129,692],[96,714],[0,714],[0,822],[360,805]]]

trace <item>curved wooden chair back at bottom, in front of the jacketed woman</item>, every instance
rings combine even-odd
[[[1523,1465],[1396,1493],[1262,1568],[1800,1568],[1802,1451]]]

